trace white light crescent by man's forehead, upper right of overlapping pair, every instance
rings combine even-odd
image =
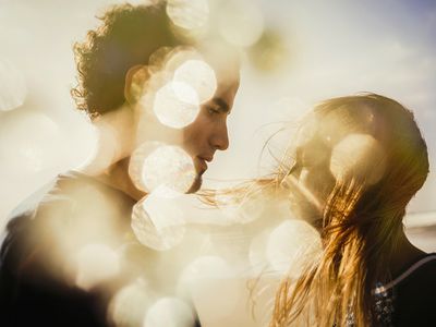
[[[214,70],[203,60],[187,60],[174,72],[173,80],[196,90],[201,104],[210,99],[217,89]]]

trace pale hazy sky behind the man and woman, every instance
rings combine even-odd
[[[70,97],[75,85],[72,45],[98,25],[97,13],[117,2],[124,1],[0,0],[0,108],[16,104],[0,110],[0,225],[23,198],[92,153],[95,134]],[[213,14],[219,16],[227,2],[213,1]],[[375,92],[415,112],[432,172],[410,211],[429,211],[416,216],[415,225],[434,226],[436,2],[241,3],[263,15],[250,28],[264,28],[274,37],[264,40],[268,51],[247,47],[229,117],[231,145],[217,154],[206,186],[267,172],[271,160],[259,155],[268,136],[315,101]],[[433,235],[426,242],[434,244]]]

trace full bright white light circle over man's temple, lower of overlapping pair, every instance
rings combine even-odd
[[[153,109],[162,124],[182,129],[199,112],[198,95],[190,84],[173,81],[156,93]]]

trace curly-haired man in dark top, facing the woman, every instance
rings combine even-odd
[[[167,136],[153,138],[157,120],[147,122],[149,111],[144,113],[141,100],[152,93],[152,61],[159,62],[155,53],[160,48],[183,43],[172,34],[164,3],[113,7],[101,21],[75,46],[80,84],[72,92],[101,131],[100,144],[82,172],[60,175],[35,208],[9,222],[0,253],[4,326],[140,324],[132,312],[120,317],[114,301],[123,287],[156,274],[147,269],[156,254],[132,233],[132,209],[147,189],[138,187],[130,173],[135,170],[131,155],[150,137],[180,147],[196,174],[185,191],[195,192],[206,161],[229,145],[227,117],[239,86],[232,65],[216,65],[216,90],[193,122],[181,129],[159,126]]]

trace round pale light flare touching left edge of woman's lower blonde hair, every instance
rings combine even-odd
[[[287,219],[269,234],[266,255],[275,271],[299,277],[307,262],[322,252],[319,233],[307,222]]]

